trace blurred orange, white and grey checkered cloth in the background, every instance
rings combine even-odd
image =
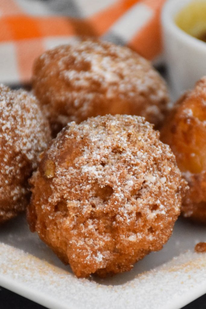
[[[0,82],[28,83],[44,50],[75,36],[126,44],[147,59],[162,49],[165,0],[0,0]]]

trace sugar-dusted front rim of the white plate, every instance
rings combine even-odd
[[[150,309],[151,303],[154,309],[171,309],[174,304],[181,307],[204,294],[206,284],[206,253],[191,251],[116,286],[77,279],[2,243],[0,265],[2,286],[12,286],[17,293],[51,309]]]

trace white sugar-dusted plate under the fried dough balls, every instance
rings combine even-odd
[[[20,216],[0,227],[0,285],[51,309],[178,309],[206,293],[206,254],[194,252],[200,241],[205,226],[179,219],[164,248],[132,271],[78,279]]]

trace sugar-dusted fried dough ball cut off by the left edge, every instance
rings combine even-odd
[[[47,119],[36,99],[0,85],[0,223],[28,204],[28,178],[50,140]]]

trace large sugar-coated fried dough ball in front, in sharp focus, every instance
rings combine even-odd
[[[68,124],[31,184],[31,230],[78,277],[128,271],[160,250],[186,187],[159,133],[126,115]]]

